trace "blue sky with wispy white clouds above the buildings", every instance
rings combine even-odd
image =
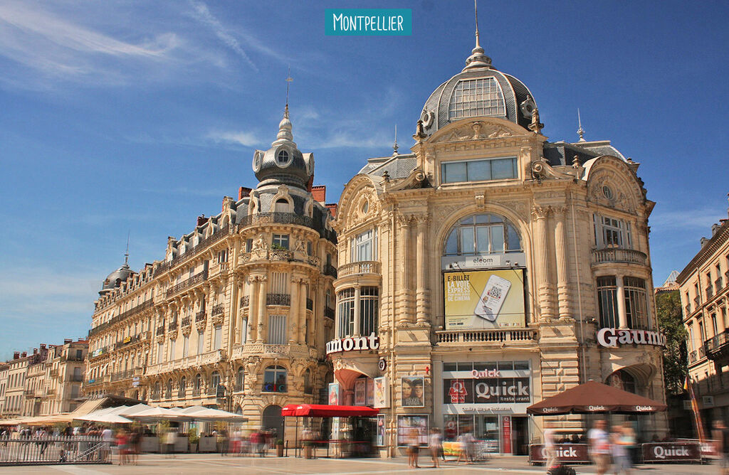
[[[324,9],[410,8],[411,36],[325,36]],[[480,1],[481,44],[521,79],[542,133],[608,139],[640,162],[654,282],[727,217],[726,2]],[[162,259],[224,195],[254,187],[291,68],[294,137],[338,201],[400,152],[464,66],[453,1],[0,0],[0,358],[87,333],[101,281]]]

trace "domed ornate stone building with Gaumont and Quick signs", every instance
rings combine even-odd
[[[542,431],[526,407],[579,382],[665,399],[639,164],[581,128],[550,141],[535,101],[477,43],[411,152],[346,184],[330,393],[382,408],[378,444],[436,426],[526,454]],[[639,424],[666,431],[664,415]]]

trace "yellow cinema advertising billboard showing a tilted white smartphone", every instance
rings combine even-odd
[[[446,330],[526,326],[523,269],[444,272],[443,296]]]

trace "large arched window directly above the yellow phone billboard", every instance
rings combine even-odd
[[[521,251],[516,228],[507,219],[494,214],[477,214],[461,219],[451,228],[443,247],[444,256]]]

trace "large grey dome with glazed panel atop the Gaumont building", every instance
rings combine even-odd
[[[476,42],[466,67],[433,91],[420,118],[428,136],[468,117],[501,117],[526,128],[536,106],[529,88],[491,66],[491,58]]]

